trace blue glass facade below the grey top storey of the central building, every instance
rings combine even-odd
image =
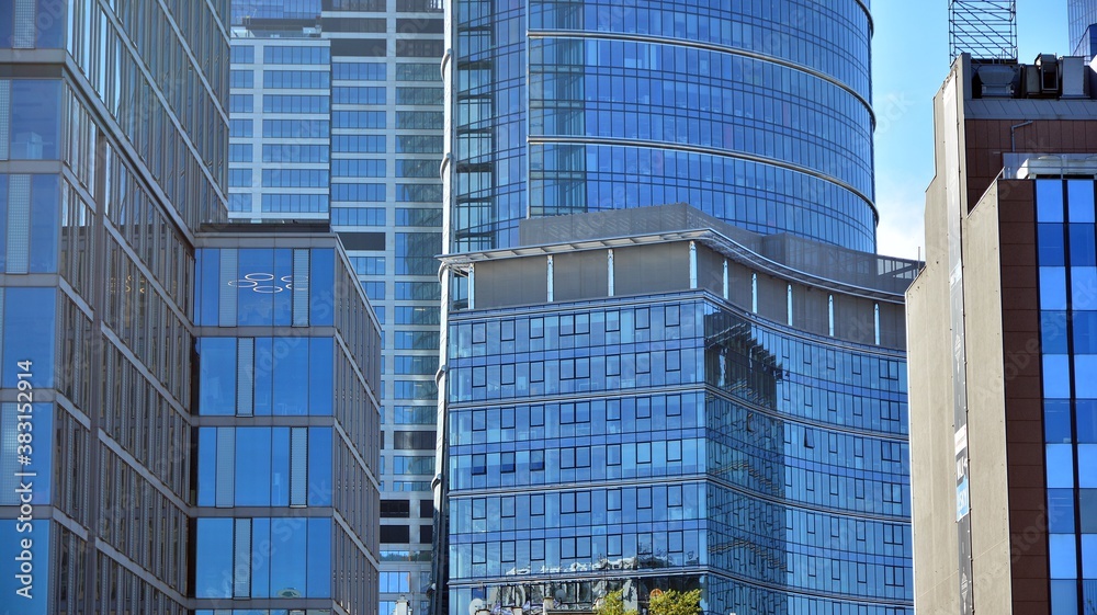
[[[461,314],[450,344],[451,614],[607,583],[911,613],[901,353],[708,294]]]

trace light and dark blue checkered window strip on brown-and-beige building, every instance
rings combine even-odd
[[[1093,180],[1038,180],[1052,615],[1097,604],[1097,249]]]

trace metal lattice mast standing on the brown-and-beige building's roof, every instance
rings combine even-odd
[[[949,0],[949,58],[1017,61],[1016,0]]]

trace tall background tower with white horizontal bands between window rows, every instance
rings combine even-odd
[[[330,220],[385,331],[381,615],[426,612],[442,251],[431,0],[234,0],[229,216]]]

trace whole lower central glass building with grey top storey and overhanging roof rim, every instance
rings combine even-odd
[[[444,612],[909,612],[916,263],[683,205],[521,234],[444,258]]]

